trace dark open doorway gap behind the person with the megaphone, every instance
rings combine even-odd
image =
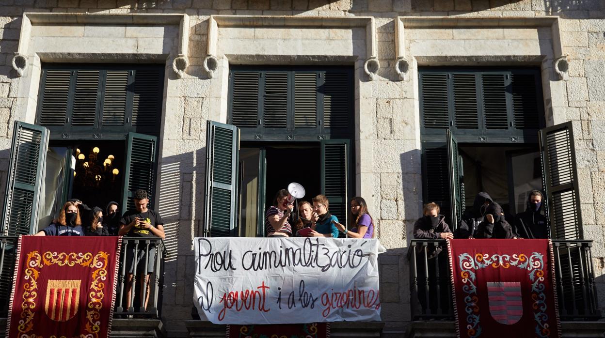
[[[292,182],[306,190],[303,200],[311,201],[321,193],[319,183],[319,145],[267,147],[266,207],[273,205],[275,193]]]

